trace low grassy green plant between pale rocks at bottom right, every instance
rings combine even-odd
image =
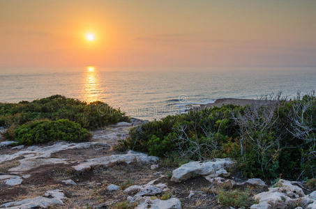
[[[218,191],[216,198],[223,204],[223,206],[232,206],[234,208],[248,208],[254,203],[250,192],[241,192],[237,189],[232,191],[221,189]]]

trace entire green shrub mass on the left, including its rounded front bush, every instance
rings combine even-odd
[[[8,127],[6,139],[17,144],[39,144],[48,141],[87,141],[93,130],[119,121],[129,121],[119,109],[104,102],[81,102],[62,95],[0,103],[0,126]]]

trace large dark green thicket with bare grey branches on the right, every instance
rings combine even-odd
[[[167,157],[165,164],[232,157],[249,178],[315,178],[315,95],[268,101],[167,116],[132,128],[120,147]]]

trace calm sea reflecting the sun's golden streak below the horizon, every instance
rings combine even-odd
[[[80,71],[80,70],[79,70]],[[103,100],[137,118],[161,118],[184,104],[217,98],[257,98],[282,91],[316,89],[316,68],[215,70],[198,72],[1,73],[0,101],[19,102],[53,94],[91,102]],[[180,100],[179,100],[180,99]]]

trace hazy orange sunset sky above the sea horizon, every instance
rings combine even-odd
[[[0,46],[0,70],[315,66],[316,1],[2,0]]]

